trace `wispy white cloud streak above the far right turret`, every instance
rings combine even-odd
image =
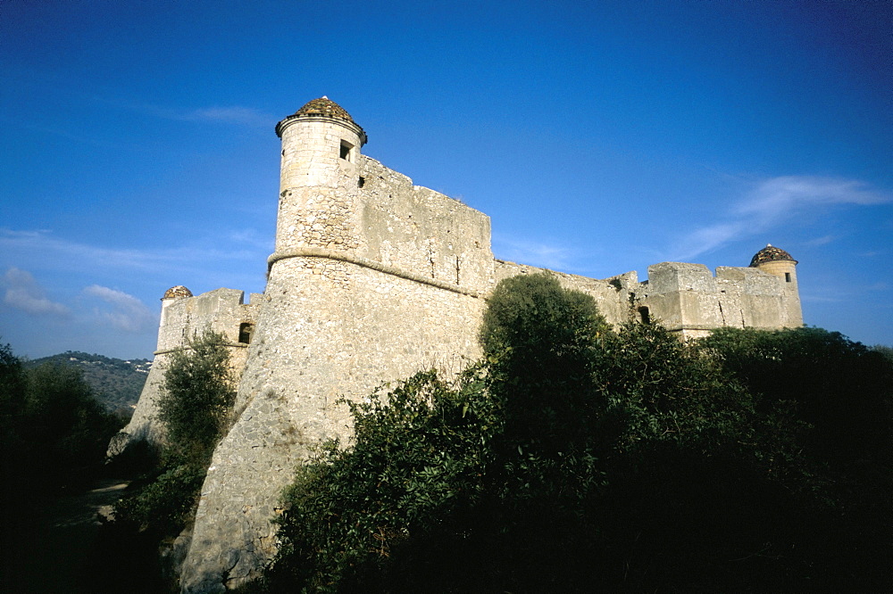
[[[680,241],[683,260],[714,250],[732,240],[762,233],[794,216],[830,205],[867,206],[891,202],[889,194],[852,179],[783,176],[755,185],[726,220],[695,229]],[[826,238],[821,238],[826,239]],[[831,241],[830,236],[827,241]]]

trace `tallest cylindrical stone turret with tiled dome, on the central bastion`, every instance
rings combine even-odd
[[[366,133],[338,103],[313,99],[276,126],[282,139],[276,251],[355,248],[351,224]]]

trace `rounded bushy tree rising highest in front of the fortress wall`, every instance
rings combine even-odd
[[[588,432],[596,350],[611,334],[595,301],[544,274],[505,279],[488,300],[480,343],[507,431],[566,450]]]

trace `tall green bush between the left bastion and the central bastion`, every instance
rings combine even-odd
[[[236,394],[226,344],[208,331],[171,355],[158,401],[166,442],[157,452],[135,456],[145,466],[113,506],[114,520],[104,525],[100,543],[102,550],[126,551],[125,571],[139,580],[105,571],[103,582],[94,584],[101,591],[175,589],[161,577],[159,551],[192,524],[213,449],[229,430]]]

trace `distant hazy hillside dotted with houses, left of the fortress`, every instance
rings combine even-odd
[[[152,361],[148,359],[125,361],[80,351],[65,351],[58,355],[29,360],[25,362],[25,366],[38,367],[44,363],[83,369],[84,379],[96,391],[96,398],[110,411],[121,408],[127,411],[127,415],[137,404],[139,392],[142,392],[143,384],[146,384],[149,367],[152,367]]]

